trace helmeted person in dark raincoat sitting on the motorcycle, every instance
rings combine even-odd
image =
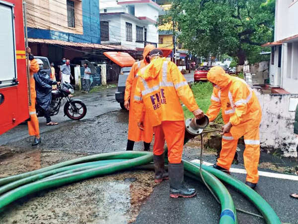
[[[51,80],[48,73],[43,71],[43,61],[36,59],[39,65],[39,71],[34,73],[35,90],[36,90],[36,102],[37,106],[44,111],[47,125],[57,125],[57,122],[53,122],[50,116],[50,106],[52,100],[52,85],[57,85],[59,82]]]

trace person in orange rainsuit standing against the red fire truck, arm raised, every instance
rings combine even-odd
[[[34,59],[34,56],[31,54],[31,49],[29,47],[26,48],[26,53],[29,55],[29,63],[30,63],[30,95],[31,95],[31,105],[29,106],[29,115],[30,120],[28,121],[28,131],[29,135],[35,136],[32,145],[37,145],[41,142],[41,137],[39,134],[39,123],[35,110],[35,102],[36,102],[36,91],[35,91],[35,80],[33,78],[33,74],[38,72],[39,66],[37,61]]]

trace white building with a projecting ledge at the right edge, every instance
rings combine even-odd
[[[298,0],[276,0],[270,84],[298,94]]]

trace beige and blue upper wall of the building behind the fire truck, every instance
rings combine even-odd
[[[28,0],[28,37],[100,43],[98,0],[74,0],[75,27],[68,27],[66,0]]]

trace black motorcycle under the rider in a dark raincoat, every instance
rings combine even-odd
[[[79,99],[72,99],[69,95],[74,93],[74,88],[71,84],[63,83],[57,86],[57,90],[52,90],[52,101],[50,107],[50,115],[57,115],[60,107],[64,105],[64,116],[67,115],[73,120],[82,119],[86,113],[86,105]],[[43,110],[37,109],[37,116],[44,116]]]

